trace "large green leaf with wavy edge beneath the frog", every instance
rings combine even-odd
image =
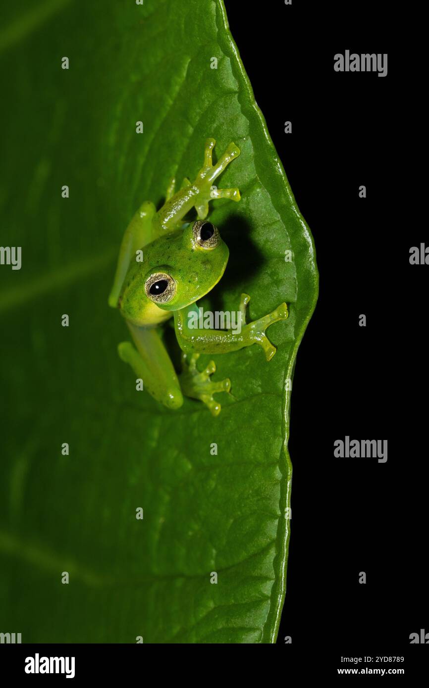
[[[22,246],[22,268],[0,266],[1,630],[23,642],[272,642],[289,540],[284,381],[317,270],[222,1],[3,4],[1,243]],[[242,200],[212,204],[231,257],[205,305],[236,310],[245,291],[251,319],[290,309],[269,328],[270,363],[256,345],[215,357],[213,379],[232,382],[218,418],[136,391],[116,354],[127,328],[107,307],[129,218],[162,202],[170,177],[196,174],[208,136],[217,155],[240,146],[220,186]]]

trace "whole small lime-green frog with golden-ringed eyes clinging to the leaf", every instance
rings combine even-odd
[[[157,212],[153,203],[144,202],[125,230],[119,252],[114,285],[109,305],[119,308],[132,334],[130,342],[118,345],[122,360],[131,365],[144,387],[169,409],[182,406],[183,395],[199,399],[213,416],[220,413],[220,403],[213,394],[229,392],[229,379],[213,382],[216,366],[211,361],[200,372],[196,361],[200,354],[225,354],[242,347],[259,344],[270,361],[275,347],[265,334],[269,325],[288,316],[286,303],[252,323],[246,323],[246,306],[250,297],[242,294],[240,312],[243,327],[234,330],[191,329],[188,315],[197,310],[196,301],[205,296],[221,279],[227,266],[229,250],[220,238],[218,228],[205,221],[209,201],[213,198],[240,200],[238,189],[213,190],[213,182],[240,155],[230,143],[218,162],[211,152],[215,140],[207,139],[204,163],[191,184],[185,178],[182,188],[174,193],[174,180],[167,190],[165,204]],[[183,218],[195,207],[198,220],[193,224]],[[143,260],[136,252],[144,247]],[[182,349],[182,373],[177,375],[157,326],[174,316],[174,328]]]

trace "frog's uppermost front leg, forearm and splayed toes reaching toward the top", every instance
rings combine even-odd
[[[195,207],[200,219],[205,219],[209,212],[209,201],[216,198],[230,198],[233,201],[240,200],[238,189],[212,189],[213,182],[224,171],[229,163],[240,155],[240,149],[235,143],[230,143],[226,151],[220,156],[218,162],[213,164],[212,151],[216,141],[208,138],[205,142],[204,162],[202,168],[191,184],[185,178],[182,188],[172,194],[174,186],[169,186],[169,193],[162,208],[152,220],[153,232],[164,234],[180,227],[183,217]]]

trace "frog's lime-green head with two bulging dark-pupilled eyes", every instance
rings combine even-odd
[[[129,271],[123,314],[137,322],[151,304],[171,311],[198,301],[218,283],[228,257],[218,228],[205,220],[152,241],[143,248],[143,261]]]

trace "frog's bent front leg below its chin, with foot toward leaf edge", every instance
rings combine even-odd
[[[230,330],[205,330],[192,327],[191,325],[196,321],[195,304],[175,311],[174,327],[182,351],[185,353],[225,354],[238,351],[252,344],[259,344],[265,352],[266,360],[271,361],[276,349],[266,336],[265,330],[279,320],[286,320],[288,316],[287,305],[281,303],[268,315],[246,324],[246,307],[249,301],[249,295],[242,294],[236,321],[237,323],[240,321],[240,331],[238,327]]]

